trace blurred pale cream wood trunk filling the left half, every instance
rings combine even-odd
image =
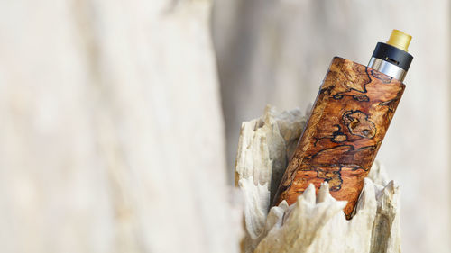
[[[0,3],[1,252],[238,251],[210,4]]]

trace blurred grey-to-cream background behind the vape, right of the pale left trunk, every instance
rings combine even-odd
[[[400,29],[413,36],[414,59],[377,159],[402,185],[405,252],[450,252],[450,10],[447,0],[216,0],[229,175],[241,122],[265,104],[305,108],[333,57],[365,65],[376,42]]]

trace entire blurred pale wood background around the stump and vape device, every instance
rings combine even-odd
[[[404,252],[451,251],[447,0],[0,1],[1,252],[238,252],[241,122],[412,35],[378,154]]]

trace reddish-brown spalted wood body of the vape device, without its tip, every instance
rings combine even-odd
[[[310,183],[328,182],[350,219],[405,86],[379,71],[334,58],[274,203],[295,203]]]

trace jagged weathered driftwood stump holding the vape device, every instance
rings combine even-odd
[[[350,221],[343,212],[346,202],[336,201],[327,183],[317,196],[309,185],[296,203],[283,201],[270,209],[274,185],[305,122],[298,109],[277,113],[268,106],[261,118],[242,125],[235,167],[244,194],[242,252],[400,252],[400,190],[379,162],[364,180]]]

